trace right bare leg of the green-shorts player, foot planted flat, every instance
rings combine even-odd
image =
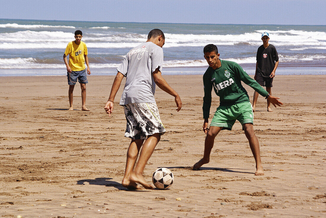
[[[255,135],[253,124],[244,124],[244,134],[248,138],[250,149],[256,161],[256,176],[264,175],[264,170],[260,160],[260,150],[258,138]]]

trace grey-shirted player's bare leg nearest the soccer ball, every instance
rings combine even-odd
[[[135,167],[135,170],[130,175],[131,182],[140,183],[146,189],[153,189],[154,187],[145,181],[142,174],[143,174],[143,171],[144,171],[147,161],[151,157],[151,155],[155,149],[155,146],[157,145],[157,143],[160,139],[161,139],[161,136],[159,133],[155,133],[155,134],[147,137],[147,139],[144,142],[144,145],[141,148],[141,154],[139,156],[139,160]]]

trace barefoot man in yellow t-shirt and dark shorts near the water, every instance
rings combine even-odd
[[[87,47],[82,40],[82,31],[75,31],[75,41],[69,42],[65,53],[63,54],[63,60],[67,67],[67,78],[69,85],[69,110],[73,110],[72,99],[73,91],[77,80],[79,81],[82,89],[82,110],[89,111],[86,108],[86,83],[88,83],[85,64],[87,65],[87,74],[91,74],[91,70],[88,65]],[[69,64],[67,61],[67,55],[69,55]]]

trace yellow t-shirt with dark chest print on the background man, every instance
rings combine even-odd
[[[77,45],[75,41],[69,42],[65,51],[65,55],[69,54],[69,66],[73,71],[80,71],[85,69],[85,57],[87,55],[87,47],[85,42]]]

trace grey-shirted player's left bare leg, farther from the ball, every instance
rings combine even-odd
[[[135,182],[130,182],[130,175],[134,171],[134,167],[137,161],[138,153],[141,150],[141,145],[144,142],[143,139],[131,139],[126,161],[125,176],[122,179],[122,186],[128,189],[141,189]]]

